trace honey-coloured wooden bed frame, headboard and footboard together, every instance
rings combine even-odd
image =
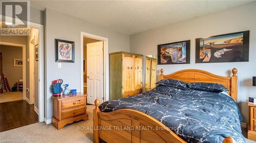
[[[229,89],[231,97],[237,101],[237,69],[232,70],[232,77],[224,77],[215,75],[203,70],[181,70],[173,74],[164,75],[163,69],[160,70],[160,79],[173,78],[180,79],[186,82],[216,82],[224,83]],[[112,112],[101,112],[99,109],[99,99],[95,100],[95,109],[93,112],[93,126],[94,126],[94,142],[99,142],[103,139],[106,142],[172,142],[184,143],[182,138],[175,134],[172,130],[164,124],[146,115],[143,112],[132,109],[119,109]],[[129,127],[144,127],[151,126],[151,130],[101,130],[98,127],[115,127],[115,126],[129,126]],[[162,128],[162,130],[156,130]],[[227,137],[223,140],[224,143],[235,143],[232,137]]]

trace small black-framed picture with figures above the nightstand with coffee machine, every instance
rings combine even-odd
[[[55,62],[75,62],[75,42],[55,39]]]

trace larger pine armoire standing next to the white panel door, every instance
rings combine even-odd
[[[142,92],[142,57],[129,52],[110,53],[110,100]]]

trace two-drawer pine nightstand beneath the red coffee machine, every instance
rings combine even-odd
[[[67,124],[79,120],[88,120],[86,113],[86,94],[61,95],[53,98],[52,124],[61,129]]]

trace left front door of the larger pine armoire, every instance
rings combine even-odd
[[[122,93],[133,91],[133,55],[122,55]]]

